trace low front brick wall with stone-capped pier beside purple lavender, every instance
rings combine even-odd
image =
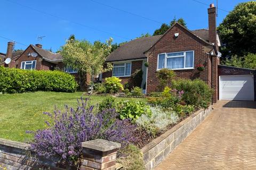
[[[60,164],[59,158],[36,157],[27,150],[26,143],[0,139],[0,169],[53,169],[64,170],[77,167]],[[79,165],[80,170],[115,170],[122,168],[116,166],[116,152],[120,143],[102,139],[82,142],[83,157]]]

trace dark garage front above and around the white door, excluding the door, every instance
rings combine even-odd
[[[251,75],[254,79],[254,100],[256,100],[256,70],[231,67],[226,65],[218,65],[218,77],[220,75]],[[219,94],[218,94],[219,95]]]

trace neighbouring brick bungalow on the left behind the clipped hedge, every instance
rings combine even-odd
[[[13,52],[14,43],[7,44],[6,54],[0,53],[2,58],[0,66],[18,68],[25,70],[62,70],[73,74],[78,80],[77,71],[70,66],[63,64],[63,57],[60,53],[52,53],[42,48],[41,44],[29,45],[25,50]],[[6,64],[6,58],[11,58],[11,62]],[[86,76],[85,84],[89,84],[90,75]]]

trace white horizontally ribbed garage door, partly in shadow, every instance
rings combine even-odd
[[[254,100],[253,75],[222,75],[220,100]]]

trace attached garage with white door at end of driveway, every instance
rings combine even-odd
[[[256,70],[218,65],[219,100],[255,100]]]

